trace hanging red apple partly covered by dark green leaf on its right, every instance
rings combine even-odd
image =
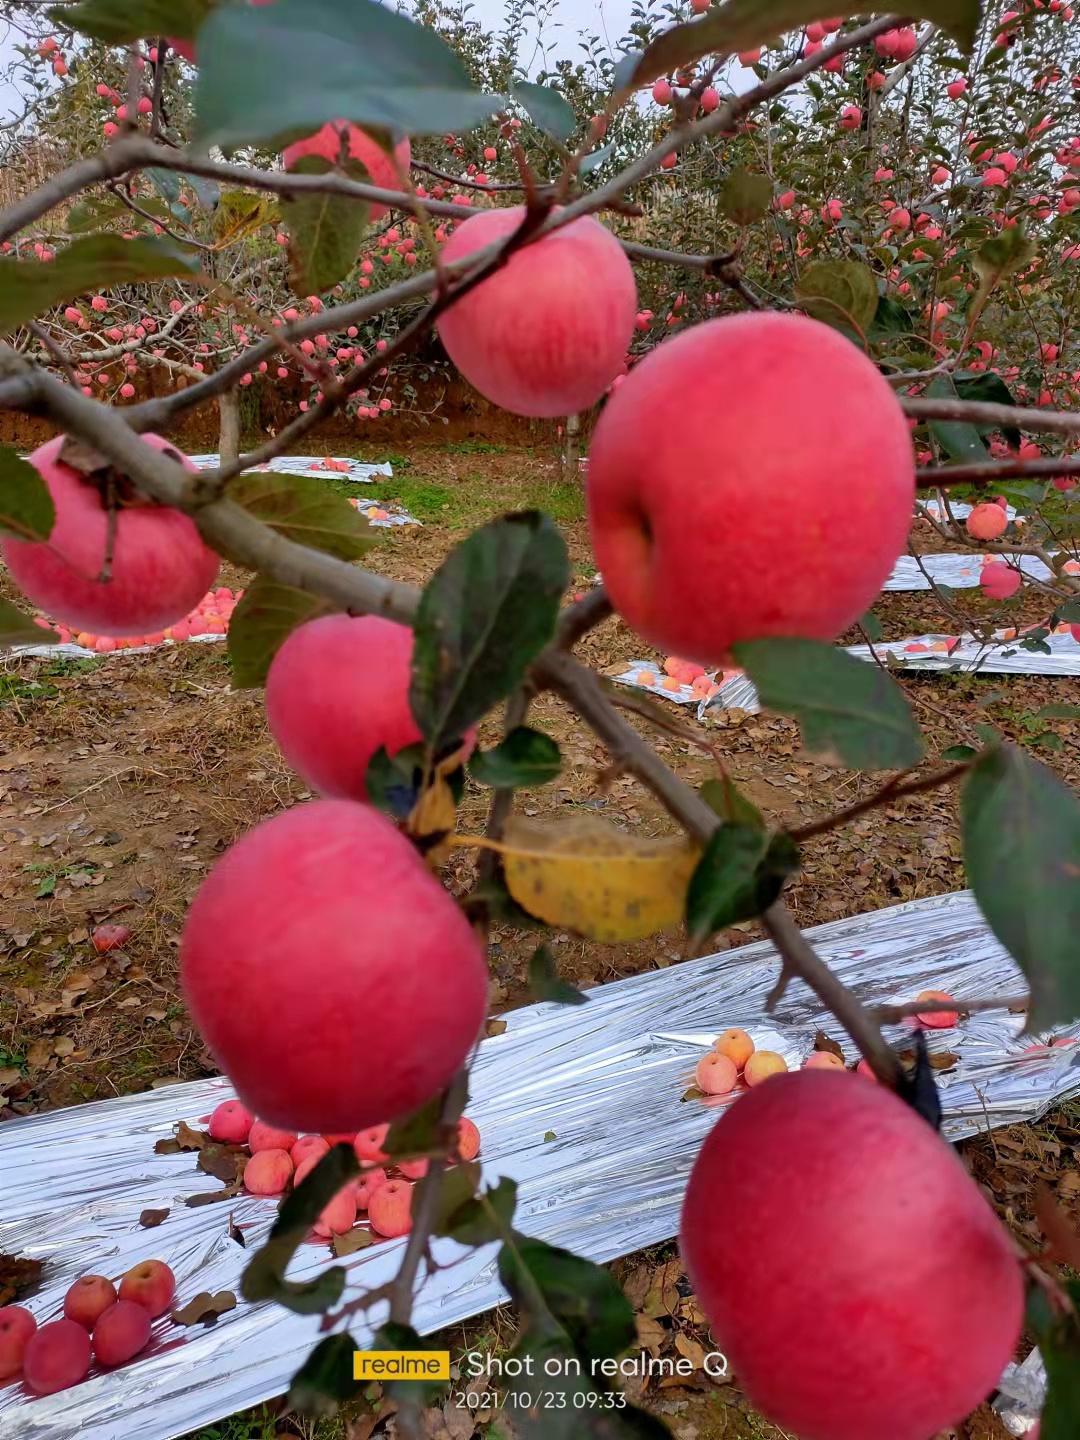
[[[298,626],[266,675],[278,749],[320,795],[367,799],[367,766],[422,736],[409,708],[413,632],[379,615],[324,615]],[[471,746],[469,746],[471,749]]]

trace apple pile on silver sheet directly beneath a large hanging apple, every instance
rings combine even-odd
[[[312,1231],[320,1240],[351,1230],[357,1218],[377,1236],[393,1238],[412,1228],[413,1181],[428,1172],[428,1161],[387,1164],[383,1151],[389,1125],[374,1125],[346,1135],[297,1135],[255,1119],[239,1100],[223,1100],[209,1120],[210,1138],[223,1145],[243,1145],[251,1159],[243,1185],[252,1195],[284,1195],[300,1185],[331,1145],[347,1143],[356,1151],[363,1171],[325,1205]],[[480,1130],[468,1117],[458,1122],[452,1161],[472,1161],[480,1153]]]

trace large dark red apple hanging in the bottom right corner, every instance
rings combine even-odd
[[[723,1113],[680,1248],[742,1388],[799,1440],[929,1440],[985,1400],[1024,1319],[1012,1243],[950,1146],[840,1073]]]

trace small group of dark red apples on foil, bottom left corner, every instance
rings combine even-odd
[[[115,1286],[84,1274],[63,1297],[63,1318],[37,1326],[22,1305],[0,1309],[0,1382],[23,1377],[35,1395],[81,1384],[91,1359],[125,1365],[150,1344],[150,1326],[173,1303],[176,1277],[164,1260],[140,1260]]]

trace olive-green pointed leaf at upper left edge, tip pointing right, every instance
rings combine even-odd
[[[86,291],[196,275],[199,266],[173,240],[95,235],[52,261],[0,259],[0,334]]]

